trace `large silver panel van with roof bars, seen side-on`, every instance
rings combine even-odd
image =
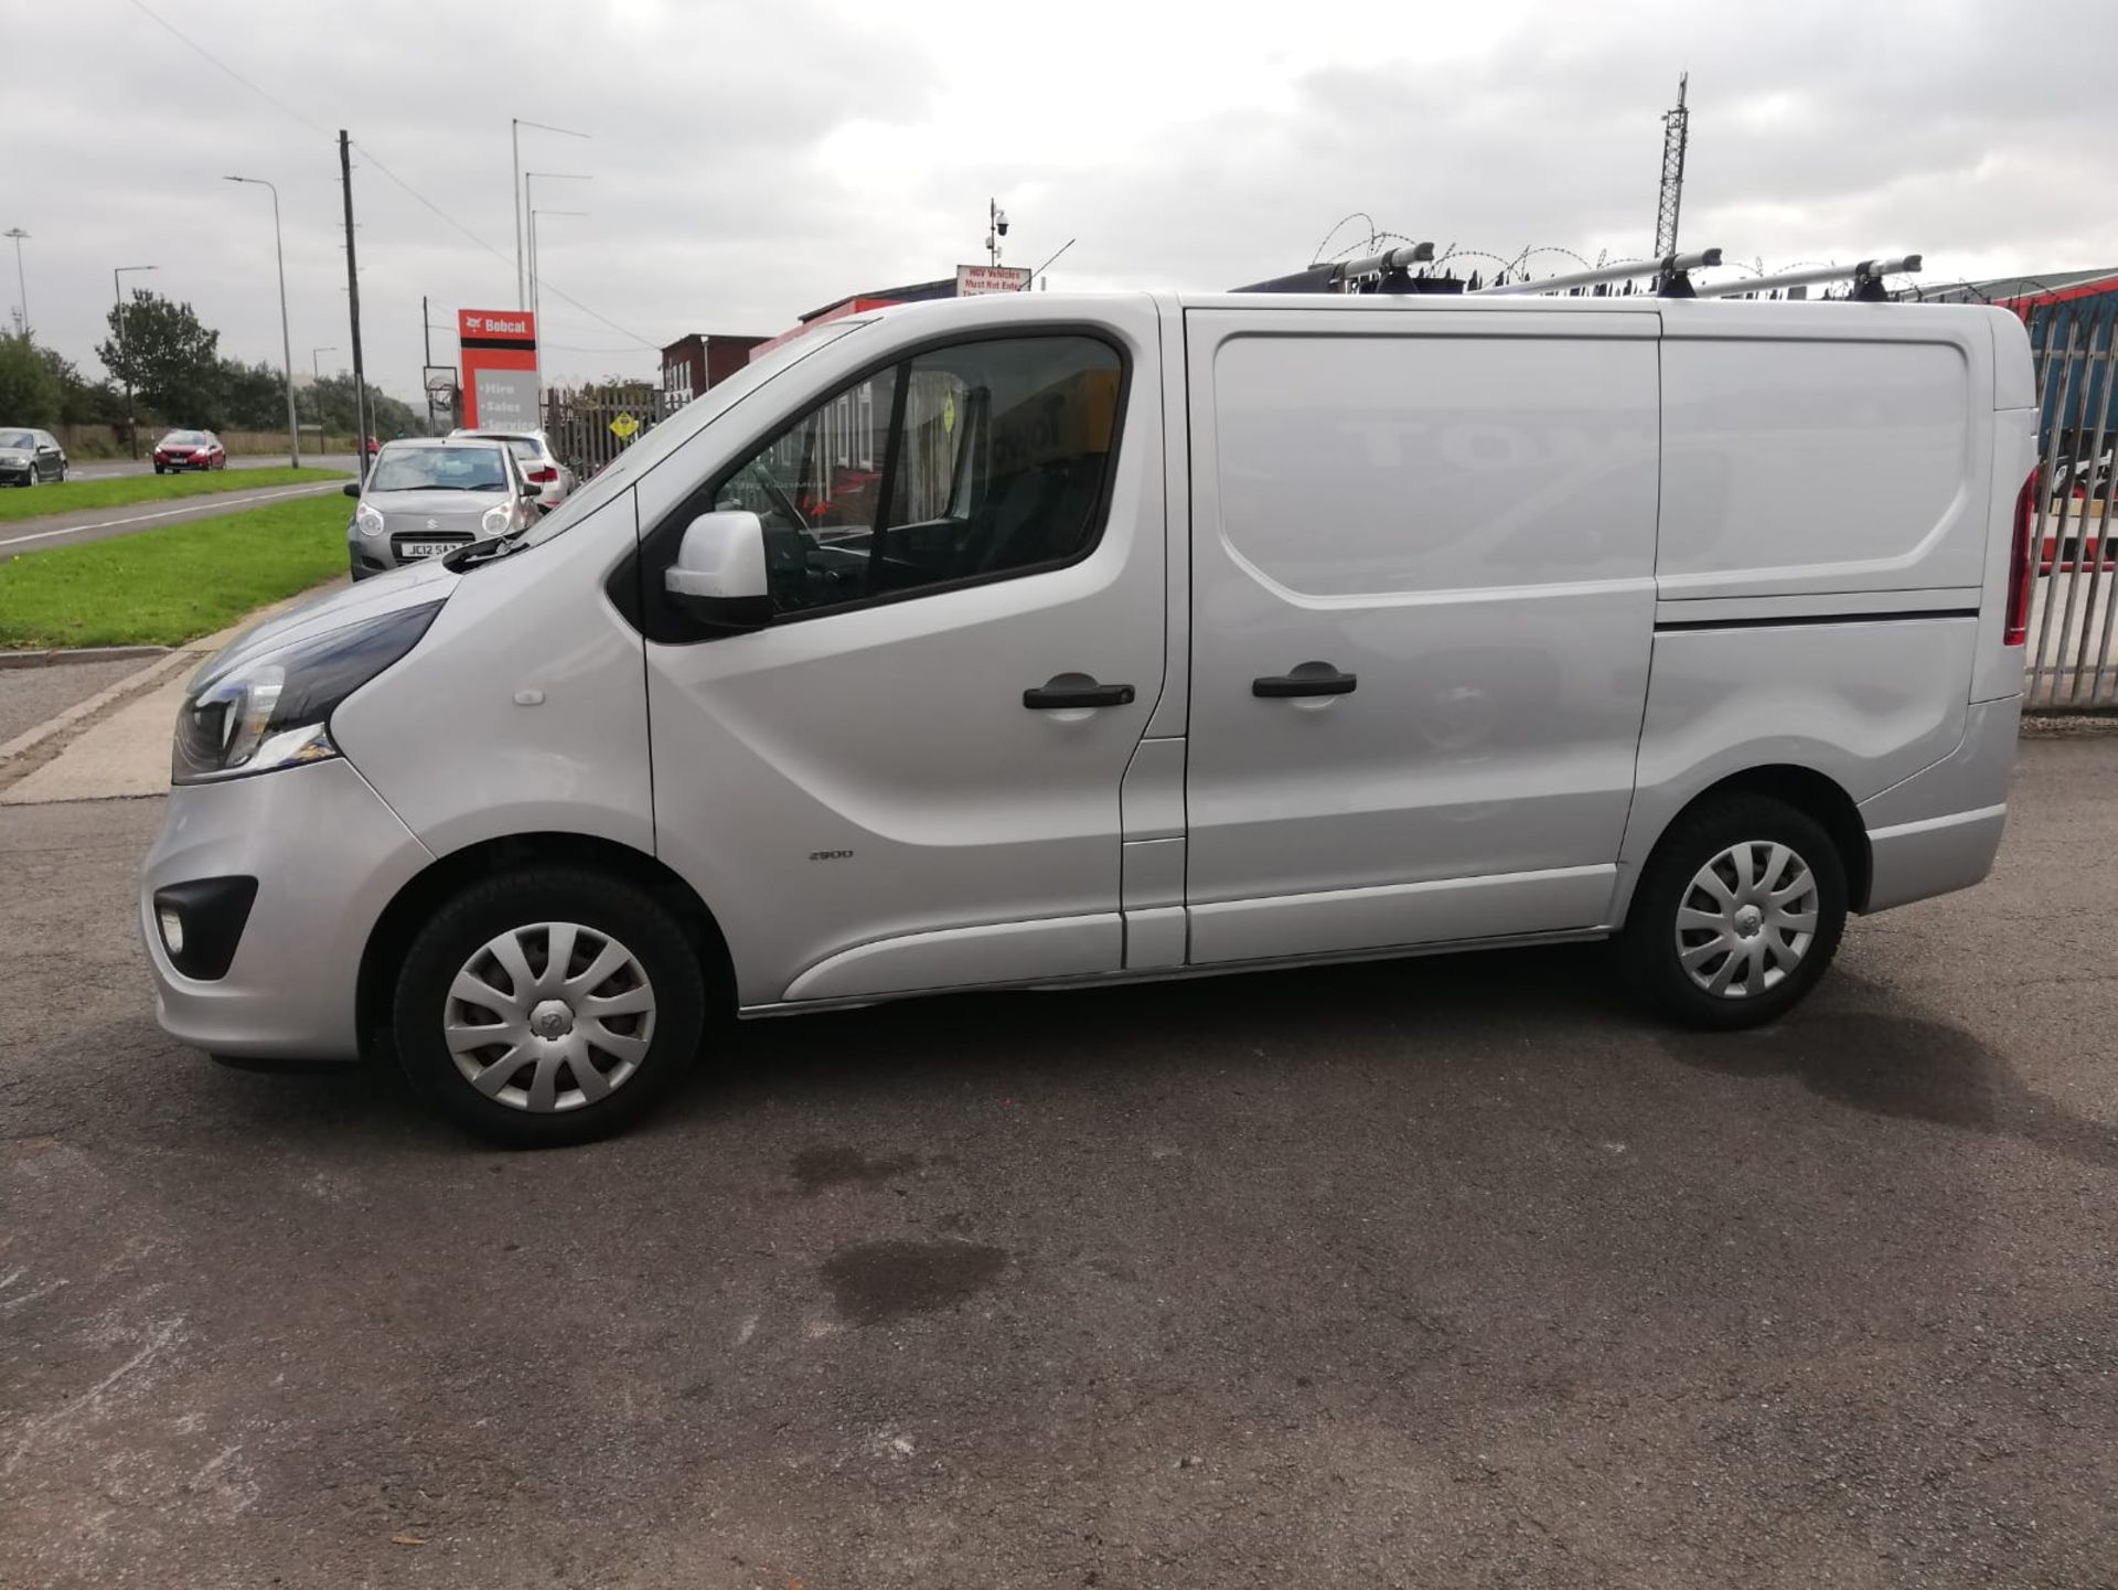
[[[1745,1027],[1999,845],[2004,311],[907,305],[208,663],[169,1033],[635,1118],[722,1016],[1618,938]]]

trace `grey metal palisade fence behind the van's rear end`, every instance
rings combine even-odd
[[[2029,599],[2025,705],[2118,707],[2118,294],[2057,303],[2031,320],[2038,360],[2038,580]]]

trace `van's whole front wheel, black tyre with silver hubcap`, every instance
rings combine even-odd
[[[703,1020],[682,923],[623,879],[559,866],[485,879],[436,910],[392,1010],[413,1086],[510,1148],[623,1131],[693,1063]]]

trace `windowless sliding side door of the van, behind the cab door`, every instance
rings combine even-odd
[[[1616,307],[1188,311],[1192,961],[1608,921],[1656,332]]]

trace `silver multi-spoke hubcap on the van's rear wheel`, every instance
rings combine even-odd
[[[1677,961],[1720,999],[1785,980],[1817,938],[1817,879],[1785,845],[1730,845],[1692,874],[1677,904]]]

